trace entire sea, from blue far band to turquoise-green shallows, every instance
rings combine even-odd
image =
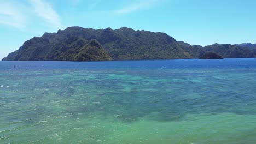
[[[255,72],[255,58],[0,62],[0,143],[255,143]]]

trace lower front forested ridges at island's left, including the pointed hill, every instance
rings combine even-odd
[[[38,44],[37,44],[38,43]],[[29,45],[29,46],[27,46]],[[24,49],[24,47],[27,47]],[[18,51],[10,53],[4,61],[111,61],[109,53],[97,40],[71,36],[54,45],[37,37],[26,41]]]

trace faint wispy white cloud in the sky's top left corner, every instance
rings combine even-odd
[[[22,10],[19,10],[14,3],[10,1],[1,1],[0,3],[0,24],[13,26],[19,29],[25,27],[27,17]]]

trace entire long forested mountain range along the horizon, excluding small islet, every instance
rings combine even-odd
[[[202,47],[176,41],[166,33],[131,28],[68,27],[34,37],[2,61],[112,61],[202,58],[208,52],[222,58],[256,57],[256,44],[213,44]],[[215,58],[215,57],[213,57]]]

